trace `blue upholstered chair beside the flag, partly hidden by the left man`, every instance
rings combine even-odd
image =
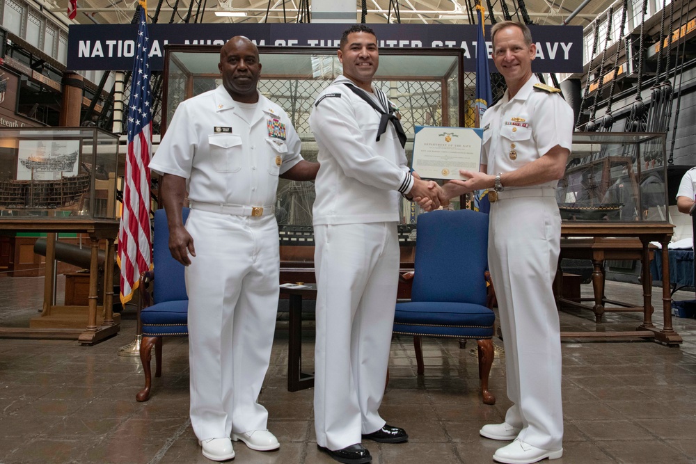
[[[184,222],[189,216],[189,209],[182,211]],[[137,401],[150,399],[152,387],[152,346],[155,346],[155,377],[162,375],[162,337],[186,337],[189,335],[187,312],[189,297],[186,294],[184,282],[184,265],[174,259],[169,253],[169,227],[164,209],[155,211],[155,235],[152,239],[152,271],[143,275],[140,282],[141,304],[139,312],[143,340],[140,345],[140,359],[145,371],[145,387],[136,395]],[[148,285],[157,282],[152,291],[152,299]]]

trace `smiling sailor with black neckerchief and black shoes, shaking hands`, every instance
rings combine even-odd
[[[319,95],[309,120],[321,164],[313,209],[315,429],[319,449],[359,464],[372,460],[361,438],[408,440],[378,412],[397,294],[400,193],[437,202],[438,187],[409,172],[393,106],[372,86],[379,65],[372,29],[345,31],[338,58],[343,76]]]

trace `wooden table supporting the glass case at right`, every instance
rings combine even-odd
[[[658,241],[663,249],[667,249],[672,237],[674,225],[670,223],[573,223],[561,225],[560,258],[591,259],[592,286],[594,289],[594,305],[584,305],[582,301],[558,298],[559,305],[571,305],[592,310],[596,321],[607,311],[642,311],[643,323],[635,331],[616,332],[562,332],[564,338],[598,338],[598,337],[650,337],[656,342],[670,346],[681,344],[682,339],[672,328],[672,297],[670,295],[670,266],[667,253],[663,253],[663,314],[664,323],[658,328],[652,322],[653,307],[652,278],[650,275],[649,243]],[[581,237],[572,239],[571,237]],[[608,300],[604,296],[604,260],[605,259],[640,259],[642,264],[643,305],[640,307],[626,303]],[[560,259],[559,259],[560,265]],[[560,286],[562,287],[562,286]],[[620,305],[619,308],[607,308],[606,303]]]

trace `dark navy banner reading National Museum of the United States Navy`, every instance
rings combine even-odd
[[[164,46],[223,45],[245,35],[259,46],[338,48],[347,24],[150,24],[150,65],[164,67]],[[476,69],[476,24],[367,24],[381,48],[461,48],[464,70]],[[68,34],[68,69],[128,70],[135,54],[136,24],[72,24]],[[583,72],[581,26],[529,26],[537,44],[534,72]],[[489,29],[489,57],[492,44]],[[493,62],[489,63],[495,69]],[[214,72],[215,70],[211,70]]]

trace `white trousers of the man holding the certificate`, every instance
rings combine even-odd
[[[491,205],[489,267],[505,345],[505,422],[541,449],[563,439],[561,344],[553,278],[561,219],[555,198],[512,198]]]

